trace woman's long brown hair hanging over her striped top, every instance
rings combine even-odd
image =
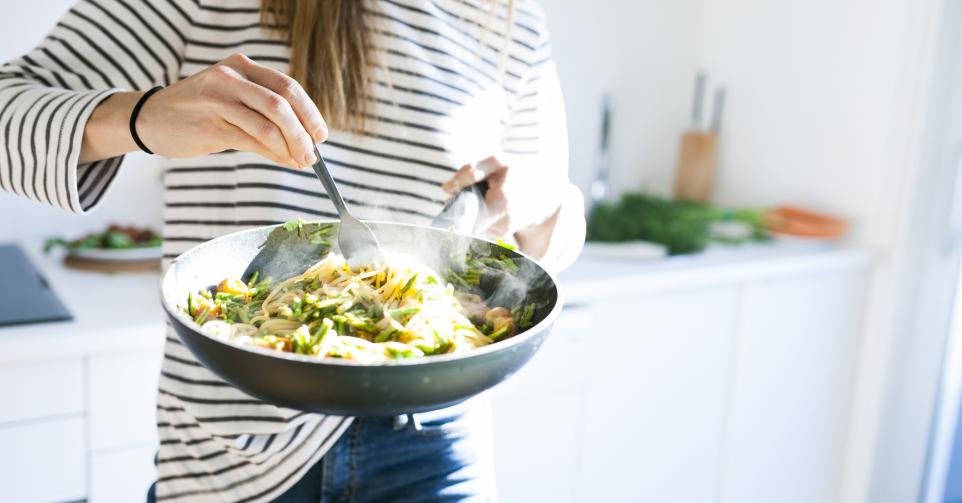
[[[498,5],[490,0],[491,14]],[[261,0],[261,21],[273,25],[291,47],[288,72],[331,127],[359,130],[368,111],[375,60],[368,0]],[[505,50],[511,40],[514,0],[508,0]]]

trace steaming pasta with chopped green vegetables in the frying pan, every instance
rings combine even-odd
[[[190,293],[185,311],[208,335],[241,345],[379,363],[462,353],[533,324],[534,304],[488,306],[482,279],[512,274],[508,256],[468,256],[441,275],[415,260],[352,270],[329,253],[298,276],[273,284],[254,273]]]

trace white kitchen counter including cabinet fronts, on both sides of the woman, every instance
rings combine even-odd
[[[21,245],[75,319],[0,328],[0,486],[16,500],[142,499],[157,476],[159,274],[70,270],[39,242]],[[560,275],[567,305],[582,308],[492,392],[499,492],[825,500],[869,264],[788,241],[647,260],[589,250]],[[624,350],[585,359],[598,334]],[[765,498],[759,480],[775,481]]]

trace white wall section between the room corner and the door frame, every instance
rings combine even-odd
[[[706,3],[699,61],[729,89],[717,199],[830,211],[877,244],[913,2]]]

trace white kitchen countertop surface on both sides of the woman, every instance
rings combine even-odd
[[[164,314],[159,273],[103,274],[63,266],[60,254],[45,256],[36,242],[20,243],[73,314],[66,322],[0,328],[0,364],[38,358],[116,351],[160,350]],[[583,257],[560,275],[568,304],[665,289],[837,268],[862,268],[858,250],[799,243],[714,247],[706,253],[667,259]]]

